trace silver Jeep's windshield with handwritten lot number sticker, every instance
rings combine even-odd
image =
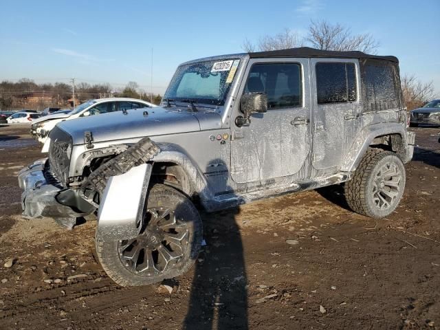
[[[240,60],[203,61],[181,65],[164,100],[223,105]]]

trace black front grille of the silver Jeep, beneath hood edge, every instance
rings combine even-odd
[[[55,126],[50,132],[49,172],[64,187],[68,183],[71,155],[72,137]]]

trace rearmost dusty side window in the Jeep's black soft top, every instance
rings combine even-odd
[[[366,65],[365,87],[369,102],[390,102],[397,99],[392,67]]]

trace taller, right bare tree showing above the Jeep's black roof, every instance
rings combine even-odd
[[[375,54],[379,43],[369,33],[353,34],[350,28],[339,23],[311,21],[306,39],[311,47],[319,50],[349,51],[360,50]]]

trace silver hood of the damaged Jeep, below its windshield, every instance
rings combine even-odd
[[[144,111],[148,115],[144,115]],[[124,114],[122,111],[91,115],[89,117],[65,120],[57,126],[72,135],[74,144],[84,144],[84,132],[91,131],[94,142],[124,140],[137,137],[166,135],[200,131],[197,117],[203,117],[203,128],[207,118],[210,126],[221,126],[221,116],[209,113],[193,113],[178,111],[176,108],[164,109],[155,107],[131,109]]]

